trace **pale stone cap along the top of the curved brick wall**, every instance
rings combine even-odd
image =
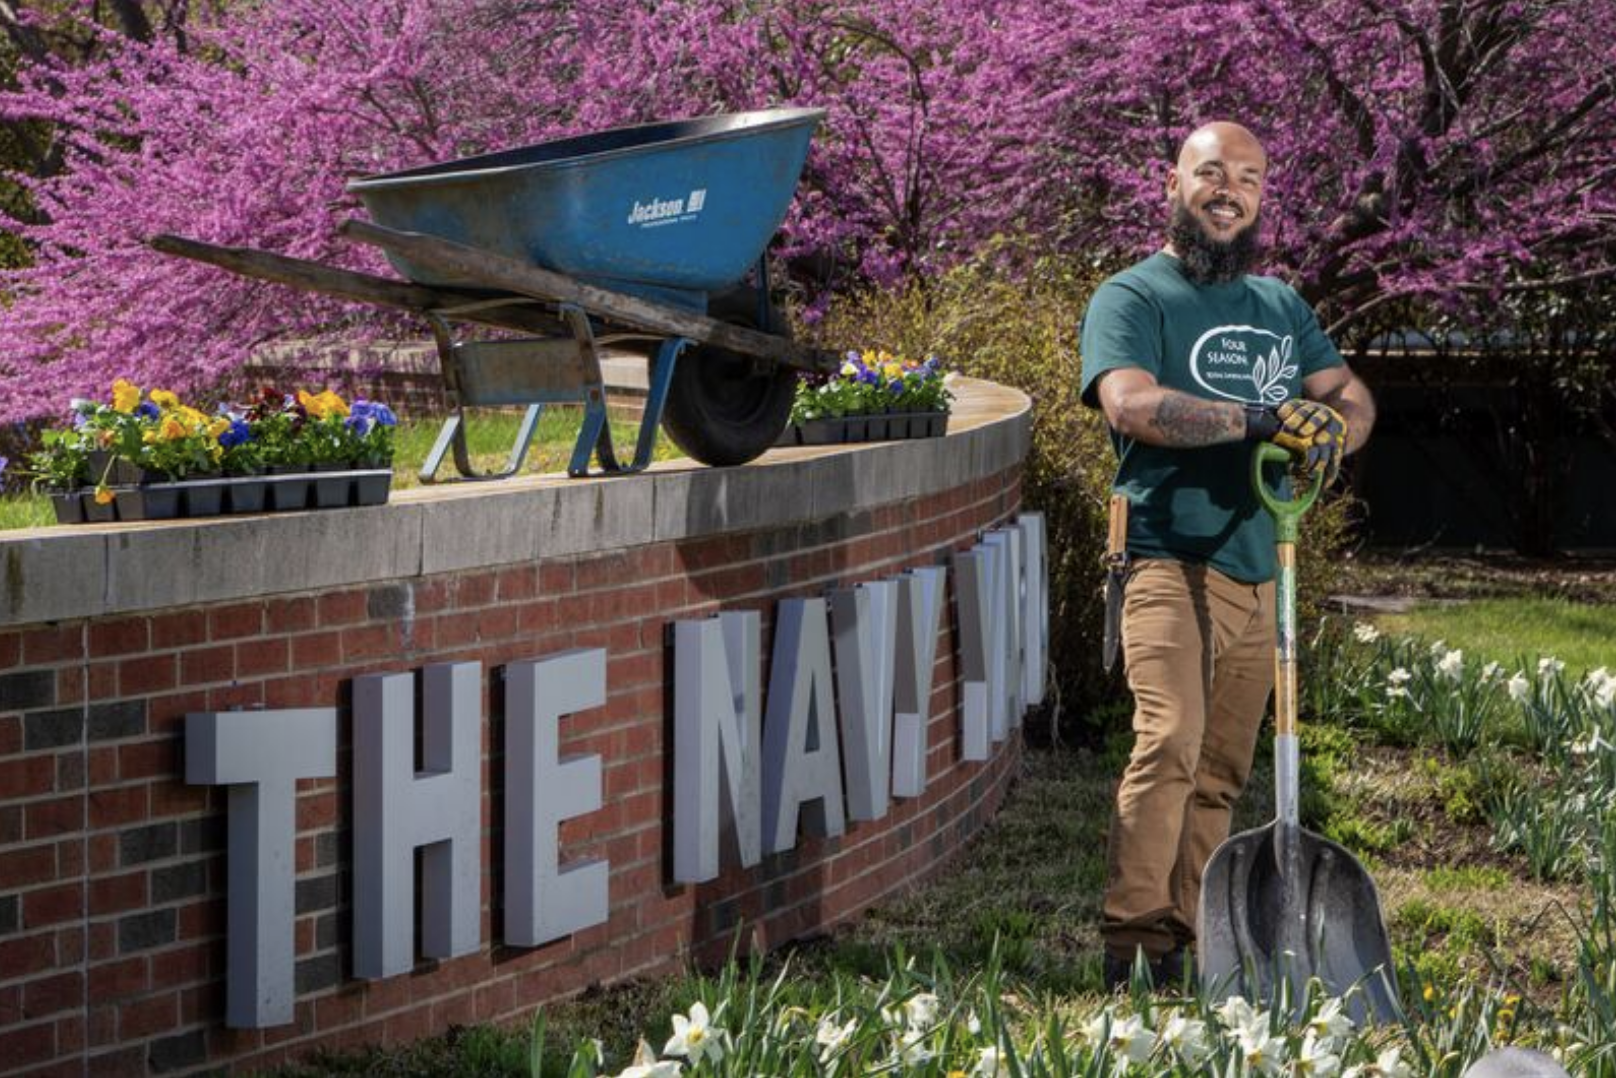
[[[365,509],[0,532],[0,627],[777,527],[963,486],[1025,459],[1025,393],[976,378],[952,390],[944,438],[779,448],[735,469],[684,459],[619,478],[419,486]]]

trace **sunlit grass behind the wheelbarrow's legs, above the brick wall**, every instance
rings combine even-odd
[[[522,414],[512,409],[472,409],[467,420],[467,446],[472,454],[472,465],[478,472],[493,472],[506,465],[511,456],[511,444],[516,441]],[[572,457],[572,446],[579,436],[582,411],[570,406],[548,407],[538,420],[533,444],[527,453],[524,474],[543,475],[564,472]],[[398,427],[396,451],[393,459],[393,490],[419,486],[420,465],[431,453],[431,443],[438,436],[443,422],[438,419],[402,420]],[[633,459],[633,443],[640,436],[638,420],[611,420],[612,446],[619,462]],[[684,456],[667,435],[656,432],[653,461],[671,461]],[[438,478],[454,478],[454,456],[444,457],[438,469]],[[45,495],[18,493],[0,496],[0,530],[34,528],[55,524],[57,517]]]

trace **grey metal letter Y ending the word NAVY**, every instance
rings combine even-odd
[[[942,587],[947,569],[915,569],[897,577],[897,640],[892,697],[892,795],[920,797],[926,789],[926,722],[937,664]]]

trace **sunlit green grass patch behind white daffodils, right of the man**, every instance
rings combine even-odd
[[[1417,606],[1408,614],[1382,614],[1375,624],[1390,634],[1446,640],[1467,656],[1506,666],[1553,655],[1580,677],[1598,666],[1616,667],[1616,606],[1558,598],[1488,598]]]

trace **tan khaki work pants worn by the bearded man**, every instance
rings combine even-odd
[[[1159,958],[1194,941],[1201,874],[1228,837],[1273,688],[1273,583],[1144,559],[1122,638],[1134,747],[1112,815],[1100,934]]]

